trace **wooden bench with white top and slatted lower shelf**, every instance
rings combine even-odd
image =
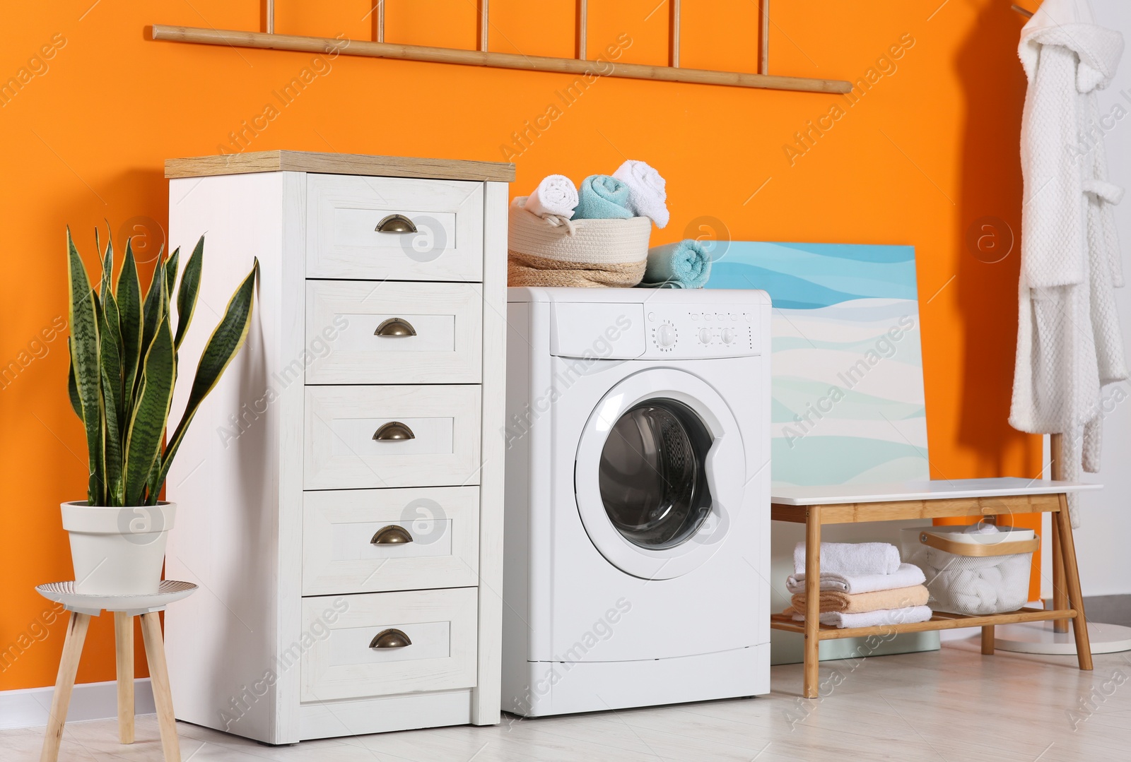
[[[784,614],[771,614],[775,630],[805,635],[802,695],[819,694],[818,658],[822,640],[862,638],[900,632],[982,627],[982,652],[994,652],[994,627],[1020,622],[1072,621],[1080,669],[1091,669],[1091,649],[1083,615],[1080,575],[1076,565],[1072,525],[1068,517],[1070,492],[1098,490],[1098,484],[1038,482],[1021,478],[957,479],[893,485],[838,485],[819,487],[775,487],[770,497],[770,518],[805,525],[805,621],[794,622]],[[820,624],[821,526],[857,521],[901,519],[985,518],[1011,513],[1052,513],[1054,548],[1060,551],[1064,575],[1054,590],[1054,607],[1021,608],[1004,614],[965,616],[936,612],[929,622],[892,623],[874,627],[830,627]]]

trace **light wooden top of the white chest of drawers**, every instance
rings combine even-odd
[[[207,177],[249,172],[320,172],[426,180],[515,181],[515,165],[452,158],[320,154],[308,150],[259,150],[247,154],[165,159],[166,177]]]

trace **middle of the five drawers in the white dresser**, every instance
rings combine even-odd
[[[477,386],[307,387],[304,418],[307,490],[478,484]]]

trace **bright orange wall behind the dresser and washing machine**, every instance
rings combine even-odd
[[[664,63],[666,7],[649,17],[657,1],[590,0],[590,52],[627,35],[623,60]],[[370,34],[368,0],[276,5],[277,32]],[[472,0],[388,6],[389,41],[474,44]],[[571,7],[494,0],[492,47],[569,55]],[[543,120],[549,127],[521,151],[512,148],[516,196],[552,172],[580,181],[642,158],[667,177],[670,193],[672,223],[654,243],[683,237],[689,222],[709,215],[739,240],[914,244],[932,475],[1036,475],[1039,440],[1005,423],[1018,254],[985,263],[964,241],[982,217],[1019,228],[1022,19],[1004,0],[777,2],[774,14],[774,73],[889,73],[851,107],[834,95],[623,79],[599,79],[563,106],[555,92],[573,79],[564,75],[351,57],[312,63],[303,53],[143,37],[153,23],[257,28],[259,9],[248,0],[8,3],[0,79],[26,83],[0,98],[0,362],[20,365],[0,391],[0,648],[25,650],[0,663],[0,690],[53,682],[64,620],[37,623],[51,608],[33,586],[69,578],[58,505],[85,494],[64,338],[44,340],[67,309],[63,226],[92,267],[92,231],[104,219],[115,234],[159,239],[163,161],[219,151],[267,104],[277,115],[260,120],[250,150],[497,161],[512,132],[558,104],[559,118]],[[684,3],[683,64],[753,70],[757,26],[749,0]],[[878,62],[905,35],[914,46],[893,67]],[[49,49],[52,58],[29,62],[52,40],[60,45]],[[280,105],[273,92],[304,67],[317,76]],[[791,163],[784,146],[838,103],[844,116],[826,122],[831,129]],[[105,616],[92,625],[79,681],[113,678],[110,625]]]

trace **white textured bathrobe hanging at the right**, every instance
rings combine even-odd
[[[1087,0],[1045,0],[1021,31],[1021,279],[1009,422],[1063,434],[1065,479],[1099,469],[1100,388],[1128,378],[1113,287],[1123,285],[1096,90],[1123,53]],[[1072,526],[1079,526],[1070,497]]]

